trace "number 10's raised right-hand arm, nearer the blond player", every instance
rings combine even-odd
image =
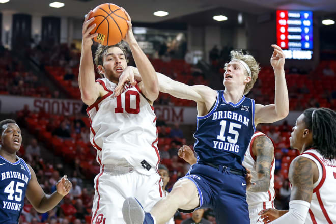
[[[159,83],[157,80],[157,76],[155,74],[154,67],[134,38],[132,32],[131,17],[128,15],[128,13],[125,11],[124,8],[121,9],[128,18],[127,21],[128,30],[123,40],[128,43],[132,51],[136,67],[138,68],[139,73],[142,76],[143,81],[142,93],[145,95],[147,99],[153,102],[159,95]]]

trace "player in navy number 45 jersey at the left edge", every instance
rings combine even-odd
[[[36,211],[54,208],[72,187],[66,176],[56,184],[57,191],[46,195],[37,182],[34,170],[16,155],[22,136],[14,120],[0,122],[0,222],[18,223],[26,196]]]

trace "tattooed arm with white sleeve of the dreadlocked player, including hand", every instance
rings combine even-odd
[[[292,184],[289,210],[278,213],[282,216],[278,217],[272,224],[304,223],[312,201],[314,174],[318,175],[318,168],[312,160],[300,156],[292,161],[288,172],[288,178]],[[274,211],[261,211],[260,214],[264,218],[264,223],[266,223],[267,220],[274,220],[274,214],[276,213]]]

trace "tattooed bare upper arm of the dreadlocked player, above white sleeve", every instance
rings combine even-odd
[[[288,178],[292,184],[290,200],[304,200],[311,202],[313,194],[313,176],[316,164],[305,157],[298,157],[293,160],[289,167]]]

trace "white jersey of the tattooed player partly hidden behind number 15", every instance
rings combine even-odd
[[[256,156],[253,154],[252,151],[252,144],[253,141],[256,137],[264,135],[266,137],[268,137],[266,134],[262,133],[262,132],[255,132],[252,137],[251,140],[249,142],[248,148],[245,152],[245,157],[244,157],[244,161],[243,161],[243,166],[245,166],[247,169],[249,169],[251,171],[251,175],[252,175],[252,182],[255,182],[257,180],[258,174],[257,174],[257,168],[256,168]],[[269,139],[271,139],[270,137],[268,137]],[[271,139],[272,141],[272,139]],[[269,185],[269,190],[267,192],[251,192],[251,191],[246,191],[246,201],[248,203],[248,206],[253,206],[256,204],[260,204],[260,203],[266,203],[266,202],[272,202],[275,198],[275,190],[274,190],[274,160],[275,160],[275,144],[272,141],[273,146],[274,146],[274,158],[273,161],[271,163],[271,173],[270,173],[270,185]]]

